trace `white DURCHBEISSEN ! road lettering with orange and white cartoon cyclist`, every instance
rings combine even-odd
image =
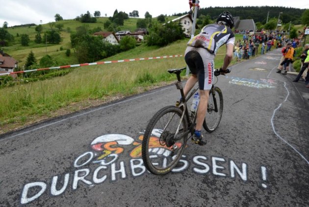
[[[152,133],[152,152],[166,157],[171,151],[162,147],[158,137],[160,129],[154,129]],[[38,199],[43,194],[49,196],[59,196],[67,190],[77,190],[79,185],[93,187],[105,182],[115,182],[129,177],[139,177],[149,173],[143,165],[141,158],[141,141],[143,133],[137,136],[136,140],[124,134],[105,134],[94,139],[90,148],[91,151],[84,152],[73,162],[73,172],[64,172],[55,175],[47,181],[34,181],[26,183],[21,193],[21,204],[28,204]],[[120,155],[126,154],[125,146],[133,145],[130,150],[129,160],[120,160]],[[127,156],[126,156],[127,157]],[[231,178],[233,180],[248,181],[248,164],[234,161],[229,158],[214,155],[182,155],[179,165],[172,170],[173,173],[180,173],[191,170],[196,174],[212,174],[218,177]],[[251,166],[252,168],[252,166]],[[268,188],[267,169],[259,166],[260,182],[258,186]]]

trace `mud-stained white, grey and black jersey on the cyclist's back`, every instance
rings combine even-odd
[[[216,54],[222,45],[225,43],[234,45],[234,42],[235,36],[230,27],[211,24],[204,26],[200,34],[194,36],[187,46],[205,48],[208,52]]]

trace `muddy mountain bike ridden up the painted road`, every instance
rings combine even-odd
[[[146,168],[155,175],[165,175],[173,170],[183,154],[187,140],[194,134],[197,107],[194,107],[195,110],[188,110],[187,101],[196,95],[199,86],[197,84],[184,96],[180,79],[180,73],[184,69],[186,68],[168,70],[170,74],[177,76],[178,81],[175,84],[181,94],[180,105],[165,106],[157,111],[144,133],[142,158]],[[219,75],[223,73],[215,70],[214,76]],[[203,122],[203,128],[208,132],[213,132],[218,127],[223,112],[223,95],[220,88],[214,85],[215,83],[209,91],[206,118]]]

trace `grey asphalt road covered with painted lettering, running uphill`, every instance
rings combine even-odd
[[[218,129],[166,176],[145,170],[140,138],[174,85],[0,135],[0,206],[309,206],[309,89],[275,73],[280,55],[219,77]]]

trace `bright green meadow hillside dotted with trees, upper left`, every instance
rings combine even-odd
[[[167,17],[168,20],[174,19],[176,17],[169,16]],[[104,30],[104,23],[108,20],[108,17],[99,17],[97,18],[96,23],[81,23],[76,20],[62,20],[56,22],[56,24],[63,24],[63,29],[60,31],[61,42],[60,44],[36,44],[34,42],[35,39],[35,27],[36,26],[21,26],[21,27],[9,27],[7,31],[12,34],[15,38],[14,43],[8,47],[2,47],[2,50],[16,60],[19,61],[20,66],[23,66],[26,62],[26,57],[30,51],[32,51],[37,58],[40,60],[44,55],[49,54],[52,56],[53,59],[57,60],[58,65],[70,65],[70,64],[78,64],[77,58],[75,55],[71,55],[67,57],[65,55],[66,49],[72,49],[71,47],[71,39],[70,34],[72,31],[76,31],[78,26],[88,26],[89,29],[94,29],[100,27],[103,31]],[[124,26],[120,26],[121,30],[136,30],[136,22],[137,18],[129,18],[128,20],[124,21]],[[156,19],[153,20],[156,22]],[[43,32],[51,30],[50,24],[44,24]],[[54,28],[58,30],[58,28]],[[27,34],[30,38],[29,46],[22,46],[21,45],[21,34]],[[74,52],[74,51],[72,51]]]

